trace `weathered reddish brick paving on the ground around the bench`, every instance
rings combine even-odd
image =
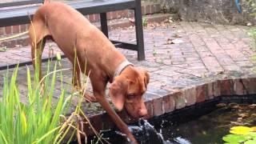
[[[213,95],[222,94],[215,89],[219,84],[209,83],[210,87],[202,85],[213,82],[219,78],[244,78],[254,76],[255,62],[251,56],[251,39],[246,31],[247,26],[223,26],[198,22],[172,22],[165,24],[149,24],[144,29],[146,61],[138,62],[137,54],[131,50],[121,50],[122,54],[135,66],[142,66],[150,72],[150,84],[145,94],[146,103],[150,107],[150,114],[159,115],[184,106],[190,106],[195,102],[202,102],[212,98]],[[134,28],[126,28],[110,31],[110,38],[122,41],[135,42]],[[50,44],[56,53],[58,48]],[[49,56],[47,45],[43,56]],[[30,47],[10,49],[0,52],[0,66],[11,63],[30,60]],[[64,68],[71,67],[70,62],[62,59]],[[31,66],[30,66],[31,68]],[[20,67],[18,74],[18,86],[22,98],[26,102],[26,67]],[[13,70],[13,69],[11,69]],[[46,64],[43,65],[46,70]],[[6,70],[0,71],[0,75]],[[64,72],[64,83],[70,90],[71,70]],[[58,81],[60,82],[60,81]],[[243,82],[249,82],[244,80]],[[221,82],[223,85],[227,83]],[[236,94],[244,94],[241,88],[243,83],[234,80]],[[194,87],[198,86],[198,87]],[[200,87],[201,86],[201,87]],[[90,91],[90,84],[88,86]],[[60,93],[60,85],[56,86],[56,97]],[[202,90],[207,89],[207,98]],[[249,87],[250,89],[250,87]],[[0,77],[0,91],[2,90],[2,77]],[[182,94],[176,94],[184,90]],[[163,97],[168,94],[172,97]],[[151,105],[154,105],[153,107]],[[90,110],[86,109],[88,113]]]

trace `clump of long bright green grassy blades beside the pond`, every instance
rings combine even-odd
[[[11,78],[8,73],[6,74],[0,99],[0,143],[48,144],[57,138],[61,127],[60,115],[63,114],[70,97],[64,98],[65,90],[62,87],[58,102],[52,105],[56,67],[57,63],[54,65],[54,72],[49,73],[48,65],[43,90],[37,78],[38,73],[35,73],[32,80],[30,70],[27,68],[28,103],[20,102],[20,92],[16,83],[18,68],[14,70]]]

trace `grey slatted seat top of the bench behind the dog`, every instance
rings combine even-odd
[[[126,10],[135,8],[134,0],[93,0],[68,2],[67,4],[82,14],[99,14],[114,10]],[[30,19],[28,14],[33,15],[37,9],[38,6],[28,6],[10,10],[0,10],[0,27],[29,23]]]

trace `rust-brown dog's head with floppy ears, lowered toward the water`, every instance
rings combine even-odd
[[[110,85],[110,98],[118,110],[126,109],[133,118],[142,118],[147,114],[142,95],[146,92],[150,75],[146,70],[127,66]]]

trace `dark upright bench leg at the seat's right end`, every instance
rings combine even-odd
[[[138,60],[145,60],[144,51],[144,38],[143,38],[143,26],[142,26],[142,7],[141,0],[136,0],[136,8],[134,10],[135,16],[135,29],[136,29],[136,39],[138,47]]]

